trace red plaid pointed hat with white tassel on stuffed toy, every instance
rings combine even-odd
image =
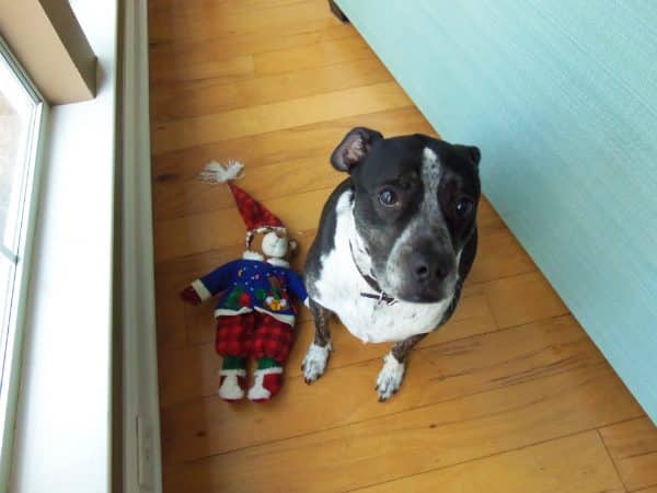
[[[217,161],[209,162],[199,176],[204,182],[228,183],[238,206],[238,210],[246,226],[246,249],[251,248],[251,241],[256,232],[280,231],[287,233],[283,221],[260,202],[232,183],[241,177],[244,164],[238,161],[229,161],[227,164]]]

